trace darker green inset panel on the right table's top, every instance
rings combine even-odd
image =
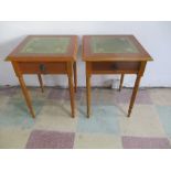
[[[133,43],[127,38],[93,36],[90,41],[93,53],[138,53]]]

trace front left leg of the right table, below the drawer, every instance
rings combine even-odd
[[[87,88],[87,117],[90,116],[90,76],[86,76],[86,88]]]

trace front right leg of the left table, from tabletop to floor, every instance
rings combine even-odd
[[[67,63],[67,76],[68,76],[68,87],[71,96],[71,108],[72,117],[75,117],[75,100],[74,100],[74,86],[73,86],[73,62]]]

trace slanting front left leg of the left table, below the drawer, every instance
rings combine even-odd
[[[23,77],[22,76],[19,76],[19,82],[20,82],[21,89],[22,89],[22,93],[24,95],[26,105],[29,107],[29,110],[30,110],[32,117],[35,118],[35,114],[34,114],[34,110],[33,110],[33,107],[32,107],[32,104],[31,104],[31,98],[30,98],[30,95],[28,93],[28,89],[26,89],[26,86],[24,84],[24,81],[23,81]]]

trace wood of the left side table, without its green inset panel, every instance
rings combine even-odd
[[[61,38],[70,36],[71,43],[65,54],[46,54],[46,53],[20,53],[21,49],[32,39],[32,38]],[[43,81],[41,74],[65,74],[68,76],[70,84],[70,95],[71,95],[71,107],[72,107],[72,117],[75,117],[75,103],[74,103],[74,85],[76,90],[77,77],[76,77],[76,54],[77,54],[77,36],[76,35],[29,35],[26,36],[6,58],[6,61],[11,61],[15,75],[19,78],[26,105],[32,117],[35,117],[35,114],[32,108],[31,98],[28,93],[26,86],[23,81],[24,74],[36,74],[42,92]],[[75,63],[75,65],[73,65]],[[74,76],[73,76],[74,67]]]

